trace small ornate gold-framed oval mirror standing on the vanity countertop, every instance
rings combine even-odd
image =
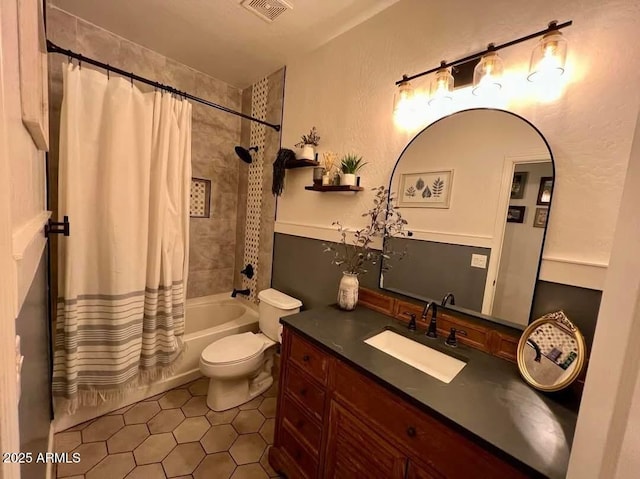
[[[582,334],[562,311],[545,314],[524,330],[518,343],[518,369],[541,391],[559,391],[580,374],[586,357]]]

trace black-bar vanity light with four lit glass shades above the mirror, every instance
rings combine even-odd
[[[552,21],[549,23],[547,28],[545,28],[544,30],[540,30],[539,32],[531,33],[524,37],[520,37],[515,40],[511,40],[510,42],[502,43],[499,45],[490,43],[487,49],[484,51],[468,55],[464,58],[460,58],[459,60],[455,60],[452,62],[442,62],[440,63],[440,66],[420,73],[416,73],[415,75],[403,75],[401,80],[396,81],[398,91],[396,92],[396,101],[394,102],[394,112],[397,115],[398,112],[403,109],[415,109],[415,105],[409,105],[411,103],[415,103],[413,87],[411,87],[411,84],[409,82],[411,80],[429,75],[431,73],[436,73],[436,78],[434,81],[435,92],[443,95],[443,97],[450,96],[451,90],[453,89],[453,77],[451,77],[450,79],[451,90],[448,90],[448,94],[445,93],[444,89],[438,90],[438,86],[442,86],[444,88],[449,84],[448,79],[445,81],[444,71],[448,71],[448,74],[451,75],[451,67],[456,67],[473,60],[478,61],[478,59],[480,59],[480,62],[476,66],[473,75],[474,93],[480,94],[481,90],[485,89],[485,86],[491,86],[491,88],[494,90],[499,89],[501,87],[501,83],[498,78],[502,74],[503,64],[502,59],[496,52],[503,48],[507,48],[512,45],[516,45],[518,43],[522,43],[537,37],[542,38],[531,56],[531,65],[529,69],[530,73],[528,79],[530,81],[537,81],[538,78],[541,79],[543,76],[545,76],[543,75],[543,73],[546,74],[547,77],[553,75],[555,75],[556,77],[560,76],[564,72],[564,62],[567,55],[567,44],[559,30],[570,26],[572,23],[573,21],[571,20],[560,24],[556,21]],[[439,75],[441,80],[440,84],[438,83]],[[434,84],[432,84],[432,99],[435,98],[435,92],[433,89]]]

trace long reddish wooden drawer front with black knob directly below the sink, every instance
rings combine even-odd
[[[405,448],[409,455],[420,458],[445,477],[526,477],[350,367],[342,363],[336,366],[336,395],[380,434],[386,434],[398,447]]]

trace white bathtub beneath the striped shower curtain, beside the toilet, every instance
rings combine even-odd
[[[258,331],[256,305],[244,299],[231,298],[231,293],[222,293],[201,298],[188,299],[185,307],[185,352],[173,374],[147,386],[132,389],[120,401],[102,403],[97,407],[80,407],[69,415],[55,404],[55,432],[64,431],[77,424],[110,413],[156,394],[186,384],[202,376],[200,354],[212,342],[231,334]]]

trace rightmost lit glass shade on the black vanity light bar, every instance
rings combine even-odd
[[[529,76],[531,82],[555,80],[564,73],[567,59],[567,41],[557,29],[556,22],[549,23],[554,28],[543,35],[531,53]]]

